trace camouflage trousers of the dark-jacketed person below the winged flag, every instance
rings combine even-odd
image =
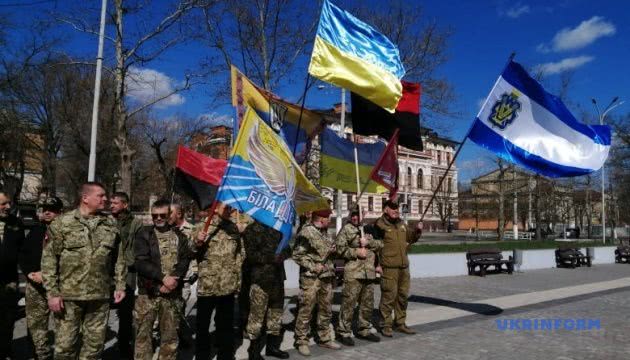
[[[277,285],[277,284],[274,284]],[[267,325],[267,334],[279,336],[282,330],[284,310],[284,286],[261,287],[252,284],[249,290],[249,317],[247,319],[247,337],[250,340],[260,336],[263,325]]]

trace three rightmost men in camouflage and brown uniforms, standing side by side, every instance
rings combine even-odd
[[[421,236],[421,225],[409,229],[400,219],[396,202],[387,201],[384,208],[383,216],[370,228],[369,234],[364,234],[358,209],[350,214],[350,221],[335,240],[327,235],[330,210],[313,212],[311,221],[298,233],[292,257],[300,265],[295,346],[301,355],[310,355],[308,334],[315,306],[318,307],[318,345],[329,349],[341,347],[333,340],[330,327],[335,276],[332,260],[335,257],[345,262],[341,311],[336,329],[340,343],[354,345],[352,318],[357,304],[356,337],[371,342],[380,341],[371,331],[374,284],[378,283],[379,276],[382,277],[379,305],[382,335],[392,337],[393,330],[415,334],[405,323],[410,282],[407,251]]]

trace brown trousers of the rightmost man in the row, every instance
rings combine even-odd
[[[405,325],[409,297],[409,268],[383,268],[381,277],[381,327]],[[392,321],[392,310],[394,319]]]

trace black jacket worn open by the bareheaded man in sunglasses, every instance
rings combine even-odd
[[[138,272],[138,293],[141,295],[159,295],[159,288],[165,276],[176,276],[179,278],[178,288],[181,288],[182,279],[188,271],[188,265],[192,258],[192,252],[188,247],[188,239],[177,228],[171,228],[177,235],[177,264],[173,274],[165,274],[162,271],[160,260],[160,247],[155,228],[144,226],[136,233],[133,244],[135,254],[135,267]]]

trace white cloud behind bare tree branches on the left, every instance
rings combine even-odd
[[[174,79],[153,69],[130,67],[127,77],[127,96],[140,104],[147,104],[172,93],[177,86]],[[180,94],[173,94],[155,104],[156,108],[181,105],[186,99]]]

